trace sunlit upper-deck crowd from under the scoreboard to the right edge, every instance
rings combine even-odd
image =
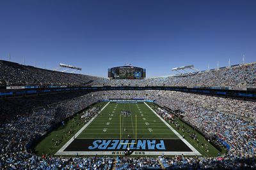
[[[255,87],[256,64],[213,69],[187,76],[163,76],[145,80],[110,80],[111,86]]]

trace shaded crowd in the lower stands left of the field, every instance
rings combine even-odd
[[[25,145],[38,135],[44,135],[52,125],[61,122],[87,106],[97,102],[92,94],[46,105],[27,115],[17,115],[0,127],[1,153],[24,151]]]

